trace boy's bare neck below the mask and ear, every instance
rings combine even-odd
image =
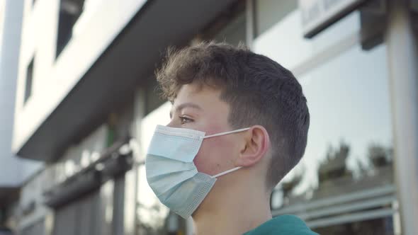
[[[271,219],[269,193],[249,185],[218,180],[193,214],[196,234],[244,234]]]

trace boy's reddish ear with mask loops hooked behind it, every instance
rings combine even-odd
[[[269,133],[261,125],[254,125],[245,132],[245,142],[240,151],[237,166],[253,166],[261,161],[270,147]]]

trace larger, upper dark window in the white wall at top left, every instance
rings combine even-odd
[[[60,56],[62,50],[72,38],[72,28],[83,12],[83,6],[84,0],[61,0],[55,57]]]

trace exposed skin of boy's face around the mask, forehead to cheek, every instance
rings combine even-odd
[[[229,105],[220,100],[220,91],[196,84],[183,85],[171,108],[169,127],[206,132],[206,135],[232,130],[228,123]],[[244,147],[239,134],[204,139],[193,160],[199,172],[213,176],[236,167],[235,159]]]

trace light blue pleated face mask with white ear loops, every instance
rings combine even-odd
[[[216,178],[241,167],[209,176],[198,172],[193,159],[203,139],[243,132],[249,128],[205,136],[205,132],[158,125],[149,144],[145,168],[149,186],[162,204],[188,218],[208,195]]]

